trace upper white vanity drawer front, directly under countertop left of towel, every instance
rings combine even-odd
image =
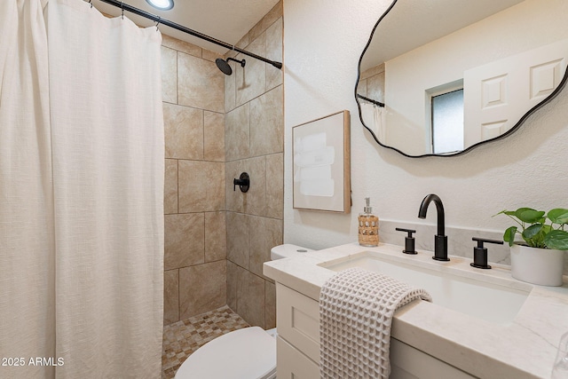
[[[319,364],[319,303],[276,283],[278,334]]]

